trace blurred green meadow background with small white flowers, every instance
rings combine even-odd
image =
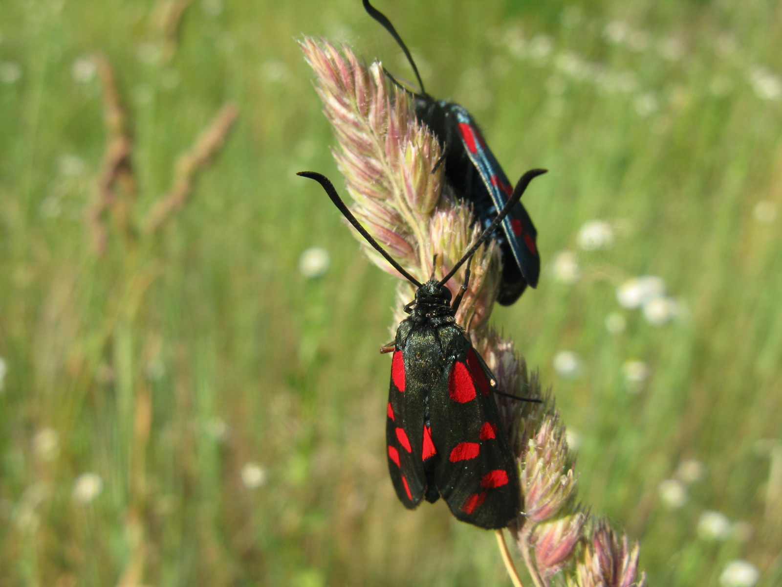
[[[493,319],[553,387],[583,502],[652,585],[741,587],[737,559],[780,585],[782,4],[377,5],[511,179],[551,170],[525,196],[540,286]],[[393,495],[394,281],[293,175],[342,185],[294,39],[410,78],[400,50],[359,0],[178,7],[0,2],[0,585],[509,585],[493,535]],[[137,221],[239,106],[185,207],[102,255],[95,52]]]

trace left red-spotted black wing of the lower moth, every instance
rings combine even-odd
[[[386,452],[389,473],[396,495],[404,506],[418,506],[426,490],[426,474],[421,459],[425,396],[415,380],[416,369],[396,348],[391,361],[391,384],[386,416]],[[411,373],[412,371],[412,373]]]

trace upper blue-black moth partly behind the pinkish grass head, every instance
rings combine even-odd
[[[418,67],[402,38],[388,18],[375,9],[369,0],[363,0],[364,9],[382,24],[407,56],[407,61],[418,80],[421,92],[403,88],[386,71],[389,78],[414,99],[415,114],[436,135],[443,147],[443,156],[435,168],[445,163],[446,181],[457,197],[472,203],[475,214],[487,227],[497,211],[501,210],[513,188],[497,159],[483,140],[478,125],[462,106],[447,100],[436,100],[424,89]],[[540,275],[540,255],[537,250],[537,231],[532,218],[518,202],[502,221],[502,231],[495,239],[503,256],[503,272],[497,301],[505,306],[513,304],[524,293],[526,286],[537,286]]]

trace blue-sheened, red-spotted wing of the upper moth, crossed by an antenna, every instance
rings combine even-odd
[[[457,104],[451,108],[456,114],[459,136],[465,146],[465,152],[479,172],[483,184],[486,185],[486,190],[490,193],[494,207],[499,212],[513,193],[513,185],[508,181],[508,176],[500,167],[494,153],[486,146],[486,142],[467,110]],[[530,286],[537,286],[540,276],[540,255],[536,244],[537,230],[521,202],[517,203],[511,213],[502,221],[502,228],[524,279]]]

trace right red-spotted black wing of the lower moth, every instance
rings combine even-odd
[[[493,376],[461,329],[450,344],[443,330],[440,339],[449,359],[429,399],[432,441],[438,452],[434,481],[459,520],[481,528],[505,528],[521,503],[518,470],[490,388]]]

